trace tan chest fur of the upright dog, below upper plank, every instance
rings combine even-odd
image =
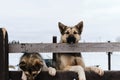
[[[82,58],[81,53],[57,53],[54,55],[55,67],[63,70],[66,66],[78,65],[77,58]]]

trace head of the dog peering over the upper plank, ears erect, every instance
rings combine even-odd
[[[61,32],[61,43],[78,43],[83,29],[83,21],[75,26],[66,26],[61,22],[58,23]]]

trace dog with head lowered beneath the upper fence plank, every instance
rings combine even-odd
[[[35,80],[41,71],[48,71],[52,76],[56,74],[56,70],[48,68],[41,55],[36,52],[24,53],[20,58],[19,67],[23,71],[22,80]]]

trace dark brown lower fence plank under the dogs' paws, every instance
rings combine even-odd
[[[105,71],[101,77],[93,72],[85,72],[86,80],[120,80],[120,71]],[[10,80],[21,80],[22,72],[9,71]],[[56,76],[52,77],[48,72],[41,72],[35,80],[78,80],[77,74],[74,72],[57,72]]]

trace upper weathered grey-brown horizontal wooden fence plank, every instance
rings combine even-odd
[[[118,52],[120,51],[119,42],[100,42],[100,43],[21,43],[9,44],[9,53],[19,52]]]

